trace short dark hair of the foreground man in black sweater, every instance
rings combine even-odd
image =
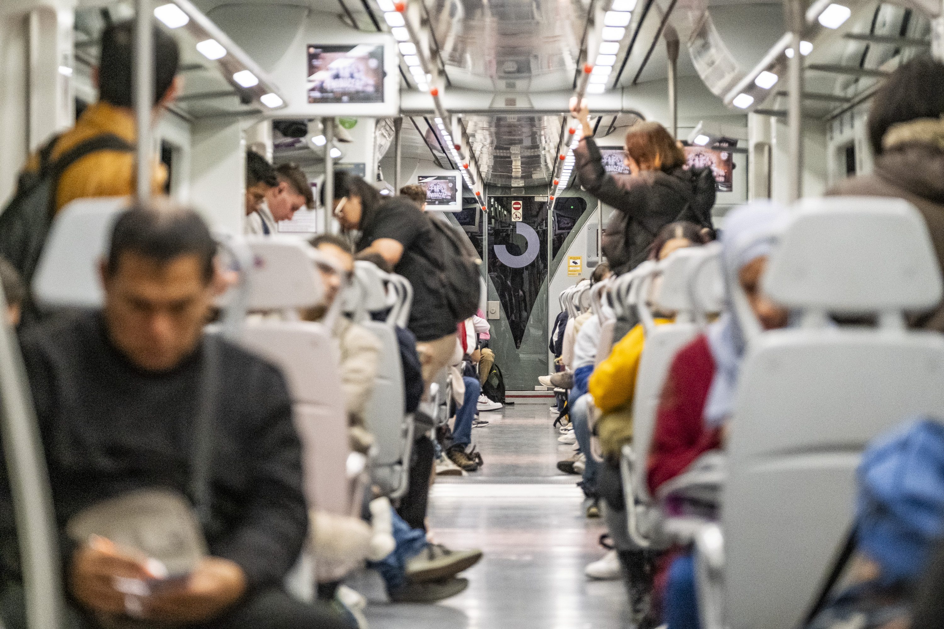
[[[108,272],[117,273],[121,255],[131,252],[161,265],[181,256],[196,256],[204,282],[213,276],[216,240],[210,227],[189,207],[160,199],[137,203],[122,212],[111,230]]]

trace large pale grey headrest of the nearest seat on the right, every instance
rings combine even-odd
[[[902,199],[827,197],[797,205],[764,290],[784,306],[855,314],[931,308],[942,286],[915,207]]]

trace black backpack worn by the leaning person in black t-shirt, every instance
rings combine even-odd
[[[442,266],[436,269],[436,273],[449,311],[459,323],[479,310],[481,259],[464,234],[444,221],[431,219],[430,223],[442,243]]]

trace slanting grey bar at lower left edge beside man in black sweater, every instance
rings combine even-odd
[[[0,312],[7,312],[3,290],[0,290]],[[26,626],[61,629],[63,579],[52,489],[19,344],[12,329],[2,322],[0,430],[20,546]]]

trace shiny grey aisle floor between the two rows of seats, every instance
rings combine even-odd
[[[582,515],[578,476],[557,471],[561,446],[548,406],[481,413],[473,440],[480,472],[438,477],[430,494],[435,541],[480,548],[469,587],[440,604],[372,604],[372,629],[620,629],[629,626],[622,582],[594,582],[584,566],[603,555],[600,520]],[[366,593],[366,592],[365,592]]]

